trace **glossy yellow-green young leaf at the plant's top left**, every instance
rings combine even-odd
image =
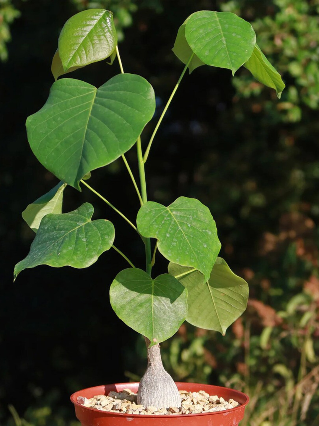
[[[113,14],[104,9],[79,12],[66,21],[58,50],[64,71],[108,58],[117,45]]]

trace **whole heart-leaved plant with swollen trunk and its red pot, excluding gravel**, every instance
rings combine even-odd
[[[225,412],[151,415],[152,422],[158,425],[168,422],[194,424],[195,417],[196,424],[212,425],[211,416],[214,416],[214,425],[236,425],[248,402],[246,395],[225,388],[175,384],[162,366],[159,343],[171,337],[184,320],[225,334],[228,326],[245,310],[248,285],[218,257],[221,244],[208,207],[185,196],[168,206],[148,201],[145,163],[159,125],[187,69],[192,72],[206,64],[231,69],[234,75],[240,66],[245,66],[257,80],[275,89],[279,98],[285,85],[256,44],[251,24],[230,12],[200,11],[189,16],[178,30],[173,52],[185,67],[144,152],[141,133],[154,115],[154,90],[140,75],[124,72],[113,16],[104,9],[80,12],[63,26],[51,67],[56,81],[46,104],[26,121],[31,150],[60,183],[29,204],[22,213],[36,236],[26,258],[15,266],[14,279],[24,269],[37,265],[86,268],[106,250],[116,250],[130,267],[120,271],[111,283],[111,306],[122,321],[145,337],[147,347],[148,367],[140,384],[100,386],[72,396],[77,417],[83,425],[120,425],[127,420],[139,424],[149,422],[151,414],[148,413],[141,416],[102,412],[78,402],[78,397],[91,398],[127,387],[137,392],[137,403],[144,407],[179,407],[179,390],[186,388],[187,391],[202,390],[220,397],[237,398],[241,404]],[[79,67],[107,58],[110,64],[117,58],[121,73],[99,88],[76,79],[58,79]],[[140,185],[125,158],[125,153],[134,145]],[[87,183],[92,170],[119,157],[127,167],[140,201],[136,223]],[[139,234],[141,248],[144,246],[145,269],[135,267],[114,246],[115,231],[110,221],[91,220],[94,213],[91,204],[86,202],[74,211],[62,213],[66,185],[79,191],[81,186],[87,187],[128,222]],[[169,263],[168,271],[155,277],[152,267],[157,251]]]

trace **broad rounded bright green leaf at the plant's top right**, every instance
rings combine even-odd
[[[251,57],[256,35],[251,24],[231,12],[203,10],[186,22],[191,50],[207,65],[231,69],[233,75]]]

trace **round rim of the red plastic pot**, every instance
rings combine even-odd
[[[92,407],[83,407],[83,404],[80,404],[80,403],[77,402],[77,397],[81,396],[81,395],[79,395],[79,393],[82,392],[82,391],[86,391],[88,389],[101,388],[101,387],[105,388],[105,386],[125,387],[125,386],[132,386],[132,385],[138,385],[138,384],[139,384],[139,382],[129,382],[129,383],[110,383],[109,385],[92,386],[91,388],[80,389],[80,391],[74,392],[71,395],[70,400],[75,406],[81,407],[81,408],[86,409],[86,410],[91,410],[91,411],[94,411],[94,412],[108,413],[108,414],[114,415],[115,417],[167,417],[167,414],[143,414],[141,416],[141,414],[128,414],[128,413],[117,413],[117,412],[113,412],[113,411],[104,411],[104,410],[98,410],[97,408],[92,408]],[[225,386],[215,386],[215,385],[208,385],[208,384],[203,384],[203,383],[191,383],[191,382],[175,382],[175,384],[177,385],[178,389],[180,389],[179,386],[181,386],[181,385],[187,386],[187,385],[190,385],[190,384],[191,385],[199,385],[199,386],[214,386],[215,388],[219,388],[221,390],[228,390],[228,391],[231,390],[235,393],[240,394],[242,397],[243,396],[245,397],[244,403],[242,403],[242,404],[240,404],[236,407],[227,409],[227,410],[222,410],[222,413],[228,413],[228,412],[231,412],[231,411],[236,410],[236,409],[238,410],[238,409],[245,408],[245,406],[249,402],[249,397],[248,397],[247,394],[245,394],[244,392],[241,392],[241,391],[237,391],[236,389],[226,388]],[[174,415],[174,417],[189,417],[189,416],[195,417],[195,416],[212,415],[214,413],[221,413],[221,412],[215,411],[215,412],[207,412],[207,413],[173,414],[173,415]]]

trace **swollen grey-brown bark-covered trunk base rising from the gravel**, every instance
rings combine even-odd
[[[146,346],[150,344],[146,337],[145,342]],[[137,403],[156,408],[181,406],[177,386],[163,367],[158,344],[147,348],[147,368],[140,380]]]

